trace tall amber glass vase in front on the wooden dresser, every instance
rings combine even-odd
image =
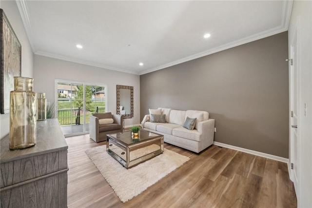
[[[14,77],[10,92],[10,149],[36,145],[36,93],[33,79]]]

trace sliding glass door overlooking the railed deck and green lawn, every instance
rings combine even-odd
[[[57,80],[58,119],[65,136],[89,132],[89,116],[106,112],[106,87],[84,82]]]

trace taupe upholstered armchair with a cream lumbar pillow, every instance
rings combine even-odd
[[[122,132],[122,115],[93,113],[90,116],[90,138],[95,142],[106,141],[106,134]]]

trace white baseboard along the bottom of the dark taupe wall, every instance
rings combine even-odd
[[[289,170],[288,172],[290,172],[289,159],[287,159],[287,158],[283,158],[283,157],[279,157],[279,156],[275,156],[275,155],[270,155],[270,154],[267,154],[267,153],[254,151],[254,150],[251,150],[251,149],[245,149],[245,148],[238,147],[238,146],[227,145],[227,144],[223,144],[223,143],[219,143],[219,142],[214,142],[214,145],[222,146],[222,147],[226,147],[226,148],[230,148],[230,149],[235,149],[237,151],[246,152],[246,153],[253,154],[253,155],[256,155],[256,156],[265,157],[265,158],[269,158],[269,159],[276,160],[276,161],[279,161],[279,162],[287,163],[287,167],[288,167],[288,170]]]

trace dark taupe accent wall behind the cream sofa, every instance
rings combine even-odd
[[[283,32],[140,76],[149,108],[205,110],[215,141],[288,158],[288,35]]]

